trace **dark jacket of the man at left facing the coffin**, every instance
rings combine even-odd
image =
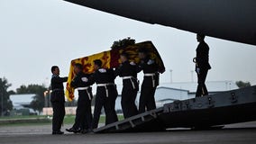
[[[50,85],[52,89],[52,94],[50,96],[50,102],[65,102],[64,96],[64,86],[63,83],[67,82],[68,77],[59,77],[53,75],[50,80]],[[61,96],[60,96],[61,95]]]

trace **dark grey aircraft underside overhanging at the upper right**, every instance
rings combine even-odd
[[[255,0],[65,0],[145,23],[256,45]]]

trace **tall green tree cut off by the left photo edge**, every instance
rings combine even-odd
[[[10,86],[11,84],[8,84],[5,77],[0,78],[0,115],[6,115],[13,109],[13,103],[10,101],[11,92],[7,91]]]

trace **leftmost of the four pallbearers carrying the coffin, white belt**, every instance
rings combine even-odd
[[[92,130],[91,101],[93,94],[90,86],[92,83],[89,83],[88,78],[90,75],[83,72],[81,64],[75,64],[74,72],[76,76],[71,81],[71,86],[78,89],[78,107],[73,127],[66,130],[74,133],[87,133]]]

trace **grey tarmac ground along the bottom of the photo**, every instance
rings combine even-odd
[[[64,125],[63,130],[70,128]],[[51,135],[51,125],[1,126],[0,144],[255,144],[256,121],[220,130],[170,129],[161,132]]]

